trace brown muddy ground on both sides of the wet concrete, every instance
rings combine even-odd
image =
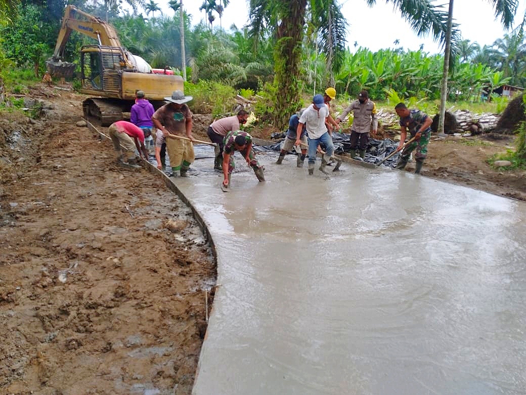
[[[37,85],[41,117],[0,123],[0,393],[189,394],[213,251],[158,176],[76,126],[84,97],[67,89]],[[196,137],[210,120],[195,115]],[[512,146],[432,141],[422,174],[526,200],[524,171],[487,164]]]

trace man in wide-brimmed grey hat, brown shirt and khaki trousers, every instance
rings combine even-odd
[[[186,177],[190,164],[195,160],[194,145],[188,140],[167,139],[167,137],[169,134],[175,134],[193,140],[192,113],[185,104],[192,100],[192,96],[185,96],[183,91],[175,91],[171,96],[165,97],[165,100],[168,103],[160,107],[151,117],[155,127],[162,132],[162,134],[157,133],[155,146],[156,149],[160,148],[166,141],[173,175],[179,171],[181,177]]]

